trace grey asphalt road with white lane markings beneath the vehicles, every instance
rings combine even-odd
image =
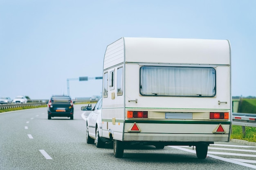
[[[181,146],[132,146],[123,158],[115,158],[112,144],[96,148],[86,143],[81,106],[74,106],[74,120],[48,120],[46,108],[0,114],[0,170],[256,169],[256,147],[234,142],[209,146],[204,160]]]

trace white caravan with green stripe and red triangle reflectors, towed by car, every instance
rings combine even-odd
[[[120,38],[103,63],[102,136],[115,157],[127,144],[156,148],[209,144],[231,132],[231,51],[228,40]]]

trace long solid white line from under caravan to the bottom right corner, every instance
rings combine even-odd
[[[175,148],[175,149],[179,149],[179,150],[183,150],[183,151],[186,151],[186,152],[191,152],[191,153],[195,153],[195,150],[190,150],[190,149],[186,149],[186,148],[182,148],[182,147],[179,147],[179,146],[169,146],[171,148]],[[210,154],[207,154],[208,157],[211,157],[211,158],[214,158],[214,159],[219,159],[221,161],[226,161],[226,162],[230,162],[230,163],[235,163],[237,165],[241,165],[241,166],[245,166],[245,167],[249,167],[249,168],[254,168],[256,169],[256,166],[254,165],[251,165],[251,164],[248,164],[248,163],[243,163],[243,162],[239,162],[239,161],[236,161],[236,160],[232,160],[232,159],[228,159],[228,158],[222,158],[222,157],[218,157],[218,156],[215,156],[215,155],[210,155]]]

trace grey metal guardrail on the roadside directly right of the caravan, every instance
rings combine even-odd
[[[232,113],[232,124],[239,126],[256,127],[256,114]]]

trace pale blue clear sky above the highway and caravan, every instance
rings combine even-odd
[[[225,39],[232,95],[256,96],[256,0],[0,0],[0,96],[48,99],[67,79],[102,76],[121,37]],[[102,80],[70,81],[70,95],[101,94]]]

